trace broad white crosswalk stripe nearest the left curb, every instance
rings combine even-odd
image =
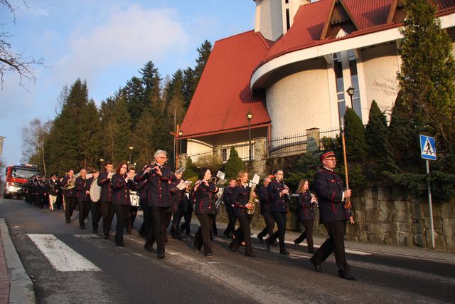
[[[101,271],[53,234],[27,234],[56,271]]]

